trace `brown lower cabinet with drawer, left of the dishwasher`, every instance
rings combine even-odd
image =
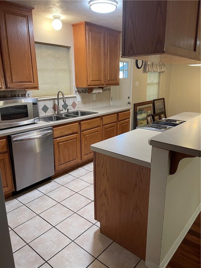
[[[8,152],[7,137],[0,139],[0,171],[4,195],[14,191],[14,182],[11,169],[10,156]]]

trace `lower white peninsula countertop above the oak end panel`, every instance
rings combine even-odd
[[[160,135],[158,131],[134,129],[91,145],[91,150],[144,167],[151,167],[151,146],[148,139]]]

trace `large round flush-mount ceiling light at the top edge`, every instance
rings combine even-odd
[[[92,0],[89,2],[91,10],[99,13],[109,13],[117,9],[117,2],[114,0]]]

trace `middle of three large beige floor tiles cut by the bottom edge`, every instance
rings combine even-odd
[[[72,242],[48,263],[55,268],[83,268],[87,267],[93,260],[94,258],[90,254]]]

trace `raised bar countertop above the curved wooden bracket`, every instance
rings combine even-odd
[[[182,118],[182,120],[184,119]],[[200,122],[201,115],[171,128],[157,137],[149,138],[149,144],[161,149],[200,157]]]

